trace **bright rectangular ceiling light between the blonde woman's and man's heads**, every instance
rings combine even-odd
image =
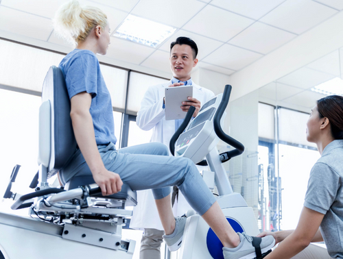
[[[118,38],[156,47],[175,31],[176,28],[129,14],[114,35]]]

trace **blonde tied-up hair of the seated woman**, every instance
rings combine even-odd
[[[95,26],[105,29],[107,16],[99,8],[81,7],[78,1],[72,0],[60,6],[53,22],[55,33],[75,47],[78,42],[86,40]]]

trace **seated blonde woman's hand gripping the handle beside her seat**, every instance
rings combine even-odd
[[[113,193],[118,193],[121,191],[121,186],[123,182],[117,173],[110,172],[106,169],[99,171],[99,173],[94,173],[93,178],[95,183],[99,185],[102,189],[102,195],[113,195]]]

